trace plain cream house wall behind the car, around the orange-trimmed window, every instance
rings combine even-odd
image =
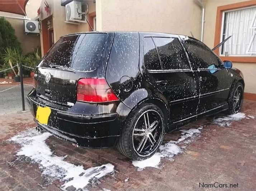
[[[214,47],[217,7],[241,2],[208,0],[205,5],[204,43]],[[200,38],[201,9],[186,0],[96,0],[97,30],[157,31]],[[256,60],[256,58],[255,58]],[[255,61],[256,62],[256,61]],[[245,77],[245,92],[256,94],[256,64],[233,62]]]

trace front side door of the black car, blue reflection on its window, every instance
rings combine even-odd
[[[227,104],[229,74],[220,59],[203,43],[186,39],[186,50],[200,83],[198,114]]]

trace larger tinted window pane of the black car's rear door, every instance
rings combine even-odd
[[[163,70],[190,69],[185,51],[177,38],[153,37]]]

